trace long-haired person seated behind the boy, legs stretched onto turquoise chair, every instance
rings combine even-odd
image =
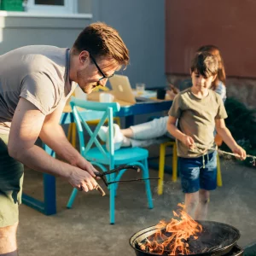
[[[203,45],[196,52],[207,51],[218,59],[218,75],[212,82],[211,89],[216,91],[223,101],[226,99],[226,87],[225,87],[225,70],[224,61],[222,55],[215,45]],[[189,87],[192,84],[189,82]],[[186,88],[183,89],[187,89]],[[182,90],[183,90],[182,89]],[[175,90],[175,91],[174,91]],[[177,88],[167,91],[171,99],[176,96]],[[167,131],[168,116],[153,119],[152,121],[132,125],[127,129],[120,129],[118,125],[114,125],[114,149],[117,150],[120,147],[148,147],[154,143],[163,143],[170,140],[170,134]],[[108,127],[102,126],[99,132],[99,136],[102,141],[107,140]],[[218,135],[217,135],[218,136]],[[216,138],[217,139],[217,138]],[[218,137],[218,145],[221,144],[221,138]]]

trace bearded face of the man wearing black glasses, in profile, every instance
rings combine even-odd
[[[105,77],[113,75],[119,68],[116,61],[104,57],[98,58],[96,64],[102,70]],[[96,67],[96,64],[91,61],[90,54],[83,55],[82,52],[79,55],[79,67],[77,69],[75,82],[79,84],[84,93],[90,94],[97,85],[105,86],[107,83],[108,79],[102,79],[103,75],[98,67]]]

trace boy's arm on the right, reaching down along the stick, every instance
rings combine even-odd
[[[224,119],[215,119],[215,126],[218,134],[223,138],[224,143],[228,145],[233,153],[238,154],[241,160],[245,160],[247,158],[246,151],[237,145],[230,130],[226,127]]]

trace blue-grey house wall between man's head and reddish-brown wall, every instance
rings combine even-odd
[[[166,86],[164,0],[93,0],[93,20],[116,28],[130,51],[131,64],[120,72],[131,86]]]

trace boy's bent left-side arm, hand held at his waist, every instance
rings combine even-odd
[[[185,135],[182,131],[179,131],[176,127],[177,118],[169,115],[167,121],[167,130],[176,137],[179,141],[184,143],[188,148],[194,148],[194,140],[192,137]]]

